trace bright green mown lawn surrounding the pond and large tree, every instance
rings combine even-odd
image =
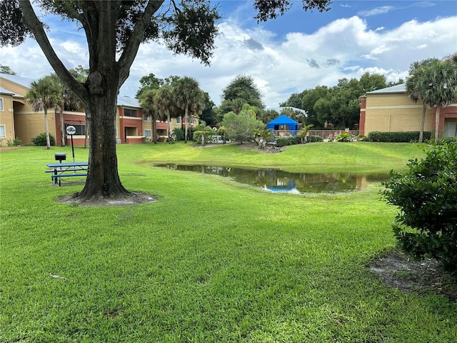
[[[69,147],[1,151],[0,342],[456,342],[456,303],[368,268],[395,246],[378,186],[271,194],[152,166],[388,171],[424,147],[120,145],[124,186],[158,197],[126,207],[55,202],[82,189],[44,173]]]

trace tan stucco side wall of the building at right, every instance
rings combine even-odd
[[[367,94],[365,135],[371,131],[419,131],[422,103],[406,94]],[[426,109],[424,131],[432,131],[433,109]]]

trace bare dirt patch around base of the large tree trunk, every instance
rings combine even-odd
[[[64,195],[62,197],[57,198],[57,202],[61,202],[62,204],[70,204],[70,205],[79,205],[79,206],[126,206],[126,205],[137,205],[137,204],[146,204],[149,202],[155,202],[157,200],[151,194],[145,193],[136,193],[132,192],[129,195],[124,195],[123,197],[116,197],[114,199],[106,198],[106,197],[99,197],[93,198],[89,201],[82,202],[81,199],[76,197],[76,194]]]

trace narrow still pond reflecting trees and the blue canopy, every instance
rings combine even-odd
[[[268,192],[337,193],[356,192],[368,185],[389,179],[389,174],[344,173],[290,173],[281,169],[243,169],[223,166],[156,164],[172,170],[213,174],[230,177],[236,182],[250,184]]]

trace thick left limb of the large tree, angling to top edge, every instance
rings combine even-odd
[[[24,14],[24,23],[30,29],[32,34],[34,34],[36,42],[39,44],[41,50],[44,53],[44,56],[46,56],[46,59],[49,61],[49,64],[51,64],[54,71],[56,71],[56,74],[62,81],[64,81],[67,86],[69,86],[71,90],[75,91],[75,93],[81,99],[86,99],[86,92],[84,91],[84,87],[82,84],[76,81],[73,76],[71,76],[68,69],[66,69],[64,64],[56,55],[56,52],[51,46],[51,43],[49,43],[49,39],[48,36],[46,36],[43,24],[36,16],[30,1],[19,0],[19,4],[21,5],[22,13]]]

